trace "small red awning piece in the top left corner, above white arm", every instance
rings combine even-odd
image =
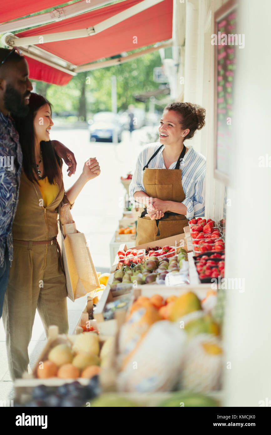
[[[12,6],[9,1],[2,0],[0,4],[0,20],[1,23],[5,23],[6,21],[23,18],[31,13],[49,9],[59,4],[61,4],[61,0],[23,0],[17,1]]]

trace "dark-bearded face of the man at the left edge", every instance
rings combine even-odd
[[[33,89],[28,74],[25,59],[5,65],[2,81],[4,106],[17,116],[26,116],[28,113],[30,91]]]

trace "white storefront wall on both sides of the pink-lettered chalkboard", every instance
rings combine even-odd
[[[192,141],[207,157],[205,216],[214,218],[222,217],[224,186],[213,175],[214,47],[210,40],[214,12],[224,3],[194,0],[184,5],[176,0],[175,15],[185,22],[185,48],[184,29],[175,37],[181,56],[179,76],[184,74],[178,100],[200,104],[207,111],[206,126]],[[244,285],[227,291],[223,331],[224,405],[234,407],[271,406],[270,16],[269,0],[238,2],[237,33],[244,34],[245,47],[237,50],[225,277]]]

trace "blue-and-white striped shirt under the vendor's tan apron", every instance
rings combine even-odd
[[[148,144],[139,153],[136,163],[136,169],[130,184],[129,195],[134,197],[137,191],[145,191],[143,186],[143,168],[150,160],[155,151],[161,147],[160,142]],[[166,169],[161,148],[159,153],[151,160],[148,167],[156,169]],[[169,169],[174,169],[177,161],[171,164]],[[182,202],[187,207],[187,219],[193,216],[204,216],[204,197],[205,197],[205,170],[206,158],[189,147],[180,163],[182,171],[182,186],[185,194],[185,200]]]

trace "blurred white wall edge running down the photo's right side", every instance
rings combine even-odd
[[[271,160],[271,2],[238,5],[245,47],[237,48],[225,272],[245,286],[227,291],[224,405],[257,407],[271,405],[271,162],[259,166],[261,156]]]

